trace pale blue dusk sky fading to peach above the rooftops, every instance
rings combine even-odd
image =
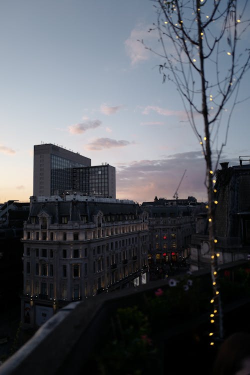
[[[158,48],[148,32],[155,20],[150,0],[0,0],[0,202],[29,201],[41,143],[114,166],[116,198],[171,199],[181,181],[179,198],[207,200],[202,149],[180,96],[140,42]],[[249,47],[247,35],[242,43]],[[249,106],[240,101],[231,116],[219,160],[228,166],[250,154]]]

